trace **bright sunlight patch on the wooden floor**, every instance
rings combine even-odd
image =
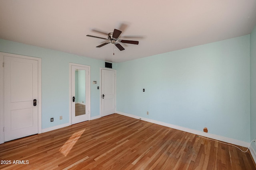
[[[85,129],[78,131],[74,133],[68,141],[60,148],[60,152],[64,155],[67,156],[70,150],[74,147],[78,139],[81,137],[81,135],[84,133]]]

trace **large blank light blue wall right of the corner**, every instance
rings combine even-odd
[[[116,86],[117,111],[250,141],[250,35],[118,63]]]

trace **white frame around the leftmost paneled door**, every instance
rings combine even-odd
[[[0,144],[4,143],[4,56],[38,61],[38,133],[42,133],[42,59],[0,52]]]

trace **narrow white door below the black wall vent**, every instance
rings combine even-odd
[[[116,71],[101,70],[101,116],[116,112]]]

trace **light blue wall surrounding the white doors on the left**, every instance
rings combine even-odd
[[[69,122],[69,63],[91,66],[91,116],[100,115],[100,67],[104,61],[0,39],[0,52],[42,58],[42,129]],[[113,68],[116,64],[113,63]],[[62,115],[63,119],[59,120]],[[54,117],[54,122],[50,118]]]

